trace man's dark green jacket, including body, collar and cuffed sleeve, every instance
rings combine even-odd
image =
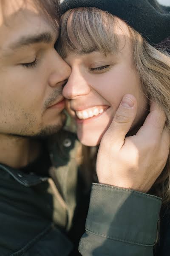
[[[0,165],[0,256],[77,255],[88,207],[78,146],[74,134],[58,134],[49,147],[50,177]],[[80,253],[152,256],[160,207],[160,198],[94,183]]]

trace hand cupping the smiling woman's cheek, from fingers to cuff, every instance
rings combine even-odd
[[[170,133],[164,112],[151,103],[144,125],[136,135],[125,137],[136,112],[136,98],[125,95],[102,137],[96,172],[99,183],[148,192],[166,165]]]

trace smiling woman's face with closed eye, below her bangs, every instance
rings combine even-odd
[[[65,61],[72,73],[63,89],[70,113],[76,119],[77,135],[82,144],[98,145],[113,121],[113,117],[126,93],[133,94],[138,102],[136,118],[131,127],[144,119],[147,100],[133,65],[130,35],[122,22],[117,28],[120,50],[116,54],[103,55],[99,51],[72,52]],[[127,35],[127,36],[126,36]]]

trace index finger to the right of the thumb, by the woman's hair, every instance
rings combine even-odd
[[[156,102],[150,102],[150,113],[144,121],[144,124],[139,129],[136,135],[147,138],[160,138],[164,125],[166,122],[166,115]]]

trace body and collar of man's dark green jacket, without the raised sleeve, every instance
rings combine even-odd
[[[70,146],[64,146],[66,139]],[[49,177],[0,165],[0,256],[66,256],[73,248],[67,233],[81,203],[74,155],[79,142],[64,131],[51,141],[53,178],[60,179],[65,205],[55,195]]]

